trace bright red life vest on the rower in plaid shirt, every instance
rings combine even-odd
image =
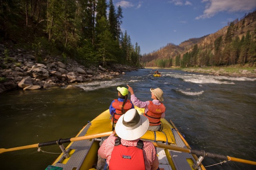
[[[109,170],[145,170],[143,157],[143,141],[139,140],[136,147],[124,146],[117,138],[109,161]]]

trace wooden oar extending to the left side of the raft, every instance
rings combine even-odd
[[[33,145],[26,145],[22,147],[15,147],[15,148],[9,148],[9,149],[0,149],[0,154],[4,152],[10,152],[10,151],[15,151],[15,150],[22,150],[22,149],[29,149],[29,148],[38,148],[38,147],[44,147],[44,146],[49,146],[49,145],[56,145],[56,144],[62,144],[62,143],[69,143],[69,142],[74,142],[74,141],[80,141],[80,140],[87,140],[87,139],[93,139],[93,138],[101,138],[103,136],[109,136],[113,131],[109,132],[103,132],[99,134],[92,134],[88,136],[79,136],[79,137],[74,137],[74,138],[67,138],[67,139],[59,139],[56,141],[47,141],[47,142],[42,142],[42,143],[36,143]]]

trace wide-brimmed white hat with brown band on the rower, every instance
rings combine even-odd
[[[142,137],[149,127],[146,116],[140,115],[136,109],[130,109],[116,122],[116,134],[124,140],[136,140]]]

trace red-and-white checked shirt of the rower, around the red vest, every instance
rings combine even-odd
[[[98,150],[98,154],[103,159],[107,159],[107,164],[109,165],[109,161],[111,158],[111,153],[114,149],[114,143],[116,140],[116,136],[114,134],[111,134],[101,145],[100,149]],[[127,141],[121,139],[122,145],[125,146],[137,146],[137,142],[139,140],[132,140]],[[158,157],[156,156],[156,149],[154,148],[154,145],[150,141],[143,141],[143,156],[145,161],[145,168],[146,170],[156,170],[158,168],[159,162]]]

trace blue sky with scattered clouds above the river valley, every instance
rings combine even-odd
[[[113,0],[113,4],[116,11],[122,7],[122,31],[133,45],[138,43],[141,54],[212,34],[256,9],[256,0]]]

